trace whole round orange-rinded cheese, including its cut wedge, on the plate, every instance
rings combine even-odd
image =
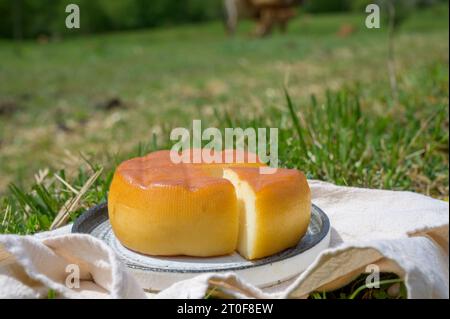
[[[207,257],[237,250],[256,259],[305,234],[311,200],[302,173],[261,175],[264,164],[251,153],[213,153],[216,161],[205,162],[198,152],[204,155],[184,152],[174,162],[173,151],[159,151],[118,166],[108,214],[122,245],[148,255]]]

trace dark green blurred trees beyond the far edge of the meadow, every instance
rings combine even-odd
[[[307,13],[363,12],[369,3],[384,5],[387,0],[309,0]],[[446,0],[392,0],[398,15],[423,9]],[[89,34],[117,30],[145,29],[175,24],[222,19],[222,0],[0,0],[0,36],[37,37],[73,35],[67,30],[65,7],[78,4],[83,27],[75,33]]]

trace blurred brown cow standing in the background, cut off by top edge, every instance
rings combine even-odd
[[[274,26],[285,32],[289,20],[296,15],[295,7],[302,0],[224,0],[226,27],[234,34],[239,19],[250,18],[257,21],[256,36],[269,35]]]

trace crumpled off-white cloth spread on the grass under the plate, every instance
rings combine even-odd
[[[211,291],[236,298],[304,298],[347,284],[368,265],[397,273],[409,298],[449,298],[447,202],[411,192],[309,183],[313,202],[330,218],[331,245],[280,286],[261,290],[233,273],[205,274],[145,294],[106,244],[69,234],[66,227],[36,236],[0,235],[0,298],[45,298],[50,289],[61,298],[204,298]],[[66,285],[70,265],[79,267],[78,288]]]

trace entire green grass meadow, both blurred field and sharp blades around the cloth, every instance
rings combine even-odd
[[[228,39],[213,23],[0,42],[0,103],[20,107],[0,115],[0,233],[49,229],[103,169],[70,209],[74,220],[106,200],[118,163],[170,147],[170,130],[192,119],[278,127],[281,165],[310,178],[448,200],[447,11],[418,12],[398,33],[398,102],[386,33],[364,29],[359,15],[305,16],[268,39],[246,37],[249,24]],[[343,24],[354,33],[337,36]],[[99,106],[115,97],[124,107]],[[392,274],[382,289],[364,278],[311,298],[406,295],[403,285],[387,293]]]

